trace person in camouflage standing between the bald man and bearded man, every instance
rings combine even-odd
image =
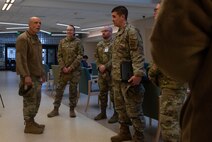
[[[56,88],[56,96],[54,101],[54,109],[47,116],[54,117],[59,115],[64,89],[69,82],[69,101],[70,101],[70,117],[76,117],[74,108],[77,104],[77,84],[79,83],[81,67],[80,61],[83,56],[83,46],[80,39],[74,36],[74,26],[67,27],[67,37],[62,39],[58,47],[58,62],[60,65],[59,83]]]

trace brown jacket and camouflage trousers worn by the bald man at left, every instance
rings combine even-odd
[[[18,36],[16,41],[16,72],[20,75],[20,88],[24,85],[24,77],[30,76],[33,88],[23,96],[24,120],[34,119],[41,101],[41,77],[45,75],[42,65],[42,45],[37,35],[28,31]]]

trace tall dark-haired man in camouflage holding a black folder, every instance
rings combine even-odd
[[[142,39],[135,27],[127,23],[128,10],[124,6],[112,10],[112,20],[119,30],[112,48],[112,79],[114,83],[115,108],[119,115],[120,132],[111,137],[112,142],[131,140],[129,125],[134,128],[133,141],[144,141],[145,119],[142,111],[144,87],[144,52]],[[133,76],[128,82],[121,81],[122,61],[132,62]]]

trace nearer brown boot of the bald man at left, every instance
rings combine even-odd
[[[31,134],[42,134],[43,133],[43,128],[37,127],[33,121],[25,121],[25,129],[24,133],[31,133]]]

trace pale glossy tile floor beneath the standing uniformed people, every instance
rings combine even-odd
[[[99,122],[92,118],[99,112],[96,105],[92,105],[88,112],[84,112],[83,104],[86,96],[81,95],[77,106],[77,117],[69,117],[67,100],[64,99],[60,107],[60,116],[48,118],[46,115],[53,108],[53,99],[49,97],[49,91],[42,90],[42,101],[36,121],[46,125],[41,135],[25,134],[22,116],[22,97],[18,96],[19,77],[15,72],[0,71],[0,93],[3,97],[5,108],[0,102],[0,142],[110,142],[110,137],[118,132],[118,124],[108,124],[107,120]],[[64,97],[65,98],[65,97]],[[92,99],[91,99],[92,100]],[[108,116],[112,111],[109,109]],[[146,142],[152,142],[156,132],[157,122],[153,121],[153,127],[147,128]]]

